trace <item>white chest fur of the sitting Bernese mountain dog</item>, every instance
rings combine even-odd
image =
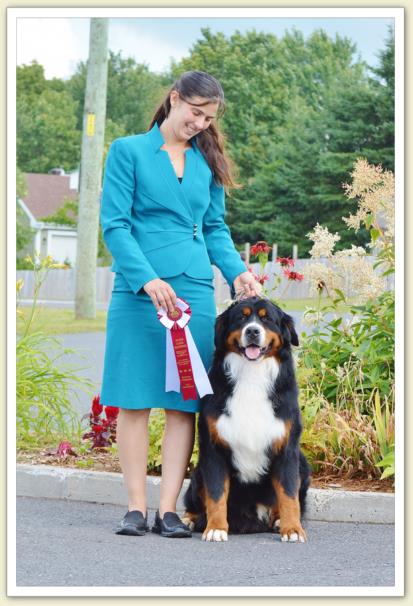
[[[268,397],[278,364],[273,357],[254,363],[231,352],[225,357],[224,368],[234,392],[216,427],[231,447],[241,482],[256,482],[267,470],[268,447],[286,431],[284,421],[274,416]]]

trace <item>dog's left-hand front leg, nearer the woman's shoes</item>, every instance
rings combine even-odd
[[[203,468],[203,476],[207,525],[202,540],[227,541],[229,475],[223,457],[212,446],[208,449],[207,464]]]

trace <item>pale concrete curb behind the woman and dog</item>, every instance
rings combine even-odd
[[[157,509],[161,478],[147,476],[148,509]],[[183,511],[184,480],[177,509]],[[17,496],[68,499],[89,503],[123,505],[128,499],[121,473],[84,471],[53,465],[17,465]],[[310,488],[305,520],[394,524],[394,494]]]

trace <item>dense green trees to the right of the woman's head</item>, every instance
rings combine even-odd
[[[303,257],[309,251],[305,234],[322,217],[341,235],[340,246],[348,246],[341,216],[353,205],[343,199],[341,183],[360,155],[371,162],[384,157],[391,168],[392,138],[380,136],[391,82],[369,78],[366,65],[354,60],[350,40],[331,39],[322,30],[307,40],[296,30],[281,39],[254,30],[229,38],[201,31],[203,38],[190,57],[172,65],[172,75],[202,69],[223,85],[223,128],[244,186],[227,201],[234,240],[277,242],[282,256],[298,244]],[[382,60],[390,76],[388,44]],[[356,242],[367,238],[363,230]]]

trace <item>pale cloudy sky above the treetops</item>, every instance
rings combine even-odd
[[[45,76],[67,79],[76,71],[80,61],[86,61],[89,44],[88,18],[29,18],[17,19],[17,64],[29,65],[33,60],[43,65]],[[223,32],[227,37],[236,30],[256,29],[282,37],[286,30],[297,29],[305,37],[323,29],[334,38],[350,38],[356,45],[355,59],[370,66],[378,63],[378,51],[384,48],[388,27],[394,20],[369,18],[111,18],[109,48],[145,63],[154,72],[170,65],[171,58],[180,60],[189,54],[191,46],[202,37],[201,28]]]

